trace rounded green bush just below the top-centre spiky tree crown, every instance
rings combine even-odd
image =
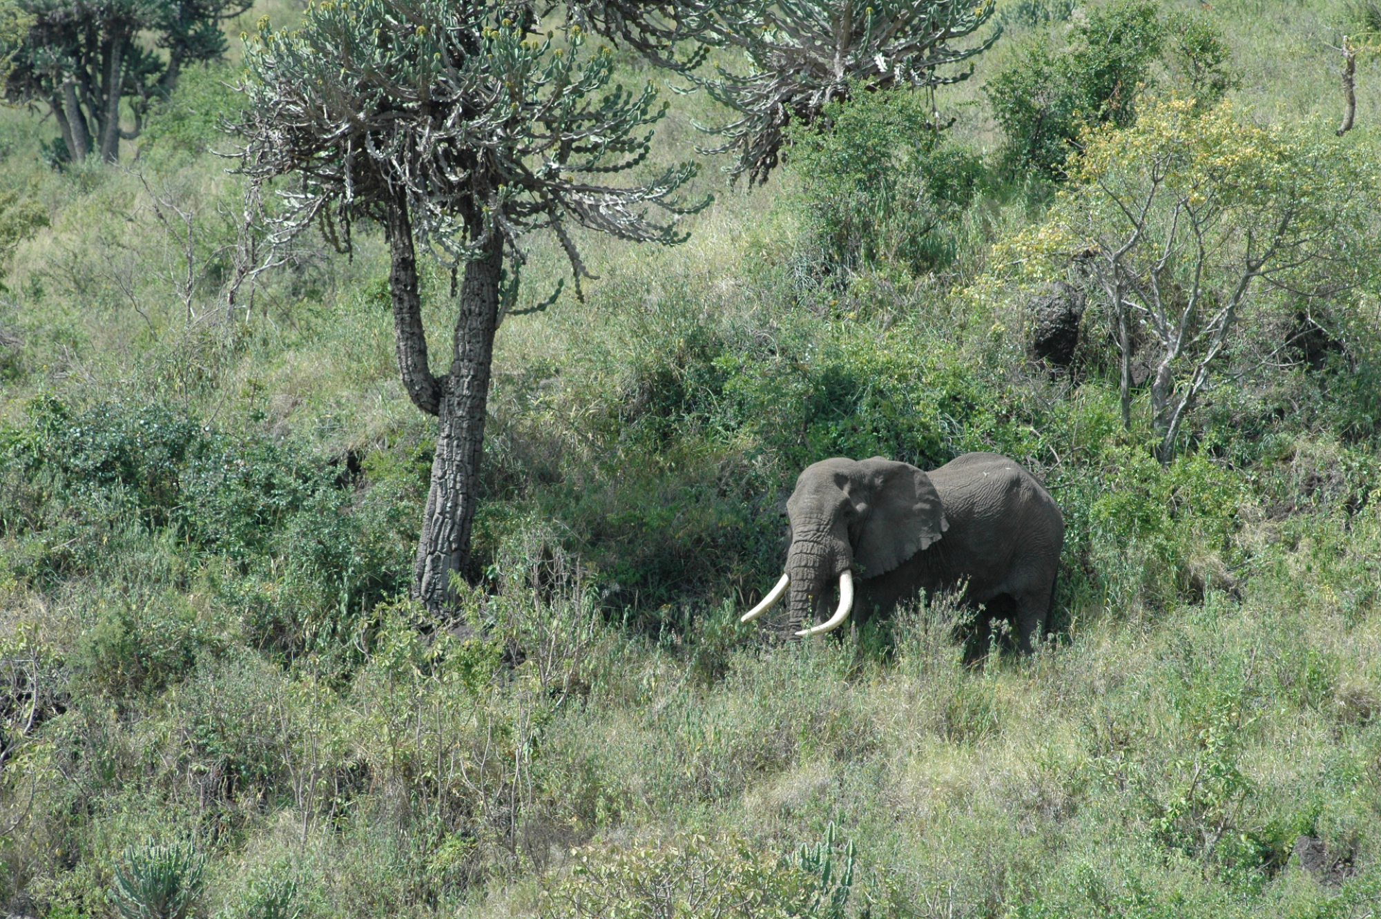
[[[791,131],[790,160],[824,257],[844,273],[947,265],[957,218],[983,179],[981,160],[939,132],[918,91],[856,87]]]

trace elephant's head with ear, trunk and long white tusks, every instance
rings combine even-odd
[[[783,595],[793,625],[813,620],[820,597],[838,581],[834,615],[797,635],[842,625],[853,602],[855,577],[887,574],[949,528],[929,476],[882,457],[862,462],[822,460],[808,466],[795,480],[786,509],[791,519],[786,573],[743,621],[757,618]]]

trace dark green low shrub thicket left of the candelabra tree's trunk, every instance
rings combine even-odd
[[[300,447],[232,439],[159,403],[73,411],[36,399],[28,414],[0,432],[11,484],[0,522],[43,546],[26,574],[104,564],[112,538],[171,541],[221,559],[214,593],[258,644],[286,653],[358,644],[374,603],[406,588],[420,515],[407,469],[371,464],[373,488]],[[120,615],[101,642],[141,633]]]

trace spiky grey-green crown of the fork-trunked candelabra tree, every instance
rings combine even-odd
[[[695,164],[606,181],[644,166],[666,103],[650,81],[610,87],[613,55],[588,52],[579,26],[563,39],[529,30],[516,11],[445,0],[326,0],[293,32],[261,21],[243,83],[254,115],[240,126],[242,168],[257,181],[301,175],[282,192],[278,236],[334,208],[348,244],[354,215],[383,219],[402,195],[417,237],[445,262],[474,258],[490,235],[521,259],[519,237],[550,229],[577,287],[590,275],[570,222],[679,241],[674,217],[704,204],[677,197]],[[650,218],[650,207],[671,219]]]

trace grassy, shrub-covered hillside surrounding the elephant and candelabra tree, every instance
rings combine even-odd
[[[232,32],[261,14],[304,15]],[[1335,135],[1319,37],[1381,17],[993,18],[972,80],[827,103],[751,192],[710,159],[686,243],[579,235],[586,301],[504,319],[474,633],[407,599],[436,429],[388,243],[264,261],[217,155],[239,48],[149,99],[123,166],[54,170],[57,127],[4,112],[0,907],[1374,915],[1381,106],[1362,52]],[[671,98],[660,161],[729,119]],[[1150,241],[1119,254],[1126,195]],[[515,312],[565,270],[523,246]],[[450,270],[417,264],[435,337]],[[1059,362],[1052,281],[1085,304]],[[947,597],[837,640],[739,625],[805,464],[969,450],[1065,511],[1040,651],[972,647]]]

